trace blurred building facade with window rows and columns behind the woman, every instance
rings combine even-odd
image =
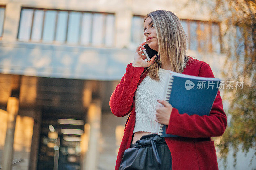
[[[221,22],[200,4],[0,1],[2,169],[114,169],[127,116],[115,117],[109,98],[157,9],[180,18],[188,55],[221,78]]]

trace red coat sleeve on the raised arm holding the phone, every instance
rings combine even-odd
[[[133,67],[132,63],[127,65],[124,76],[110,97],[109,106],[114,115],[123,117],[131,112],[134,93],[143,70],[144,67]]]

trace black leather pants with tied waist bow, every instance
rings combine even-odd
[[[164,137],[143,135],[124,151],[120,170],[172,170],[171,152]]]

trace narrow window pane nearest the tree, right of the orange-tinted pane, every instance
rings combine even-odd
[[[218,24],[212,24],[212,51],[220,53],[220,26]]]

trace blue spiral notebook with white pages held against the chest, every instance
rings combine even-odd
[[[179,114],[209,115],[220,81],[219,78],[191,76],[170,71],[166,77],[163,99],[176,108]],[[161,137],[178,137],[166,134],[166,125],[160,123],[157,123],[156,132]]]

